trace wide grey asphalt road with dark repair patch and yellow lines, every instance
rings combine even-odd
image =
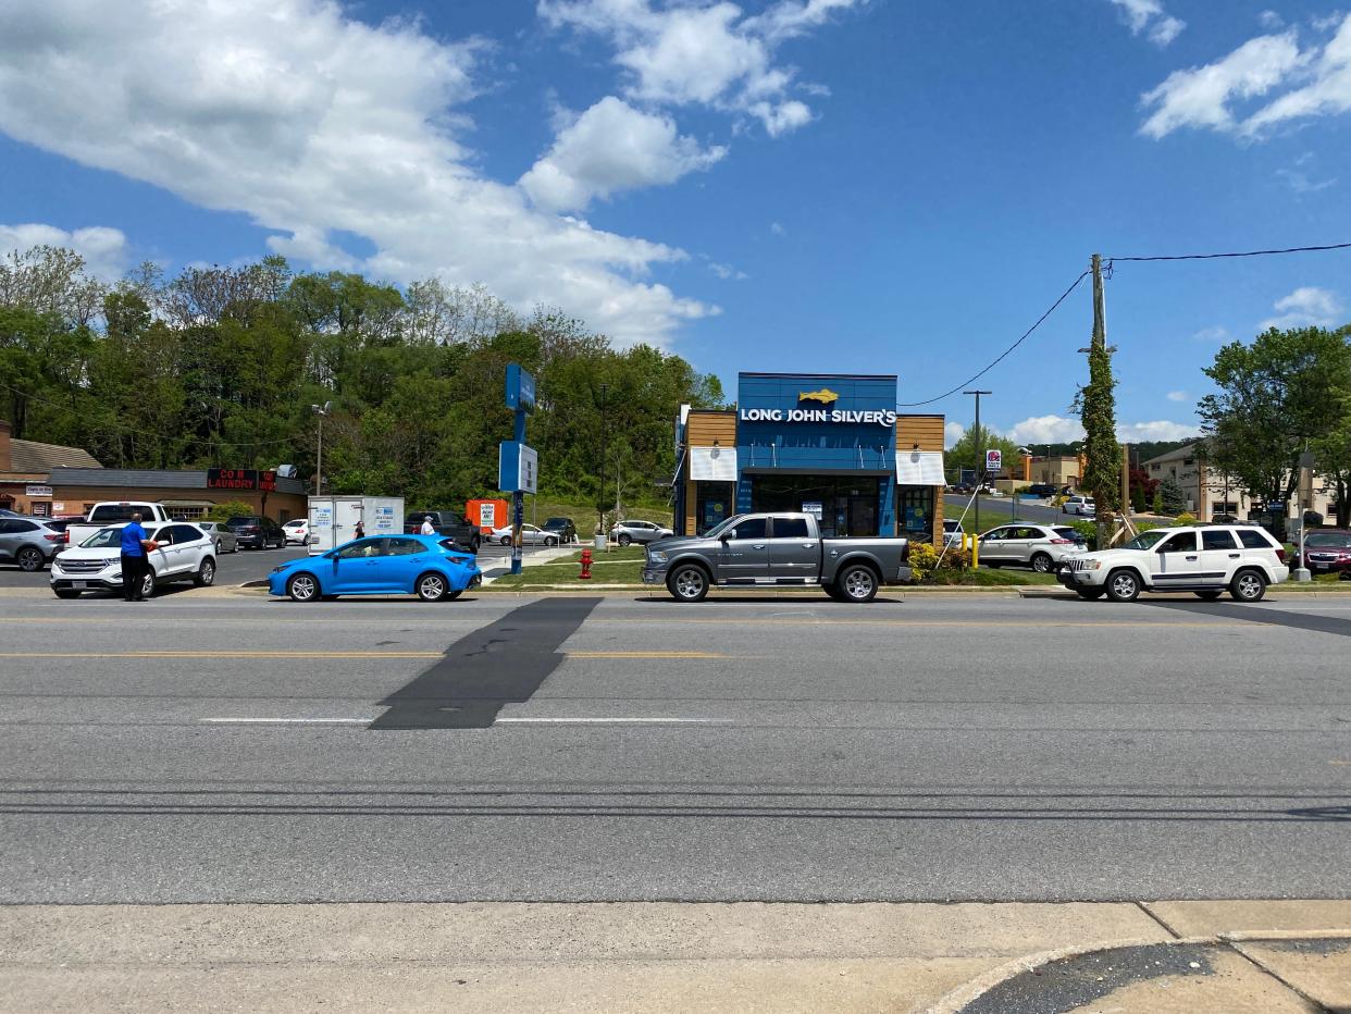
[[[0,902],[1351,892],[1347,599],[0,606]]]

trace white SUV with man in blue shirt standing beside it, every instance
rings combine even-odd
[[[122,530],[126,525],[100,529],[78,546],[63,549],[51,561],[51,591],[58,599],[76,599],[86,591],[122,591]],[[216,544],[196,525],[172,522],[143,525],[146,537],[159,544],[146,556],[150,572],[141,588],[142,598],[170,581],[192,581],[205,587],[216,580]]]

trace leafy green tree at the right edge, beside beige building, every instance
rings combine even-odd
[[[1208,461],[1233,476],[1248,496],[1289,500],[1300,454],[1346,425],[1351,389],[1351,329],[1271,329],[1251,345],[1232,342],[1205,375],[1219,392],[1197,406]]]

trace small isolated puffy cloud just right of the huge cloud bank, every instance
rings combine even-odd
[[[725,154],[725,147],[700,149],[670,118],[611,95],[567,123],[520,185],[539,208],[581,211],[594,197],[676,183]]]

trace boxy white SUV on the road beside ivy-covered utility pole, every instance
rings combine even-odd
[[[1269,584],[1290,576],[1285,548],[1263,529],[1204,525],[1142,531],[1120,549],[1075,557],[1059,580],[1082,599],[1133,602],[1142,591],[1196,592],[1259,602]]]

